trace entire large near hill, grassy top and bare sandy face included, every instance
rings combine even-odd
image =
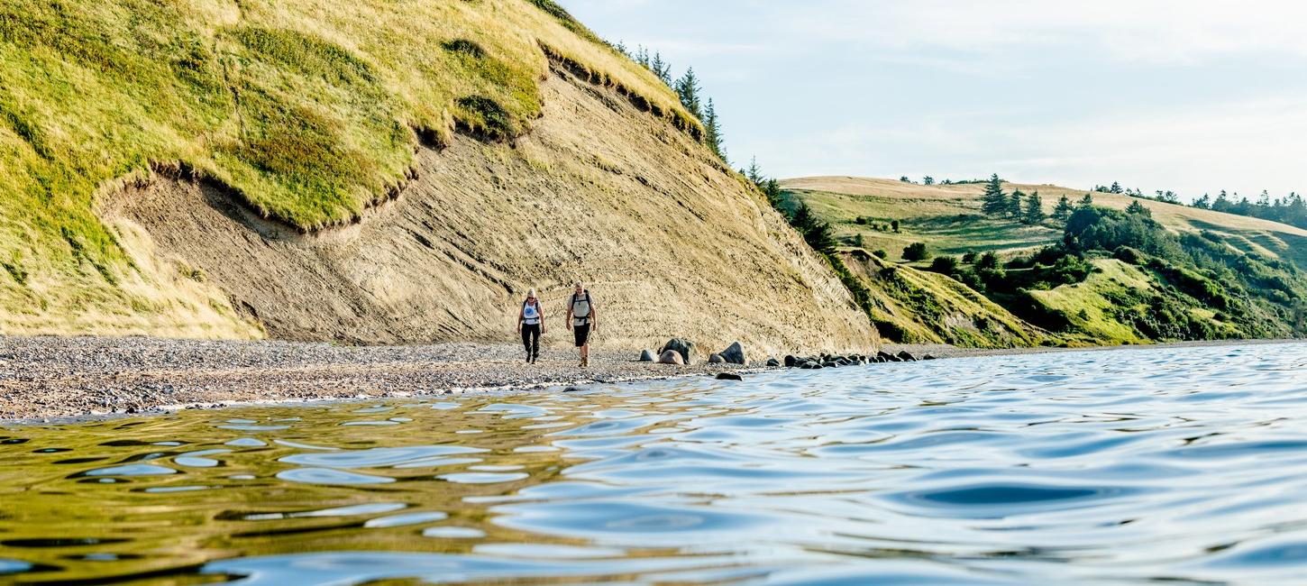
[[[549,0],[0,7],[0,334],[864,348],[667,82]]]

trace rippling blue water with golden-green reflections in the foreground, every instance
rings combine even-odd
[[[1307,344],[0,428],[0,582],[1307,578]]]

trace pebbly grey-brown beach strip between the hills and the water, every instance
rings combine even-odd
[[[972,349],[886,344],[884,351],[937,358],[1302,343],[1218,340],[1087,348]],[[770,370],[697,361],[639,362],[639,351],[592,349],[576,366],[571,348],[542,348],[527,365],[516,344],[444,343],[339,347],[298,341],[152,337],[0,336],[0,424],[42,425],[162,415],[182,409],[533,391]],[[782,358],[776,356],[775,358]]]

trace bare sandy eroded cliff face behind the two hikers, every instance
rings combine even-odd
[[[421,149],[399,196],[348,228],[301,234],[221,186],[161,177],[102,216],[146,234],[137,250],[150,263],[199,269],[273,337],[503,339],[535,286],[546,343],[563,344],[563,300],[580,280],[608,347],[876,344],[829,267],[685,132],[562,68],[541,89],[529,135]]]

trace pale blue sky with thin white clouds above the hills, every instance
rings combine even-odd
[[[559,3],[693,65],[737,167],[1307,191],[1307,3]]]

